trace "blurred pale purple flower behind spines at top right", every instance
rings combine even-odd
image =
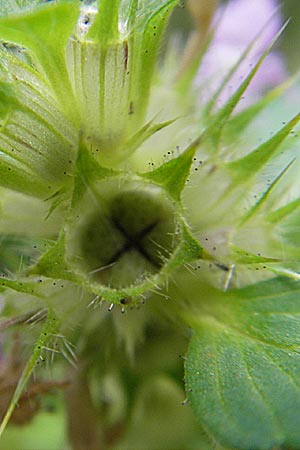
[[[216,90],[230,68],[237,62],[245,48],[262,31],[254,48],[242,62],[223,91],[219,104],[223,104],[248,75],[252,66],[268,47],[282,26],[276,0],[231,0],[221,6],[215,20],[218,25],[209,50],[203,58],[198,80],[204,86],[204,99]],[[288,76],[281,54],[272,50],[251,82],[244,104],[258,99],[265,91],[275,87]],[[202,97],[202,99],[203,99]]]

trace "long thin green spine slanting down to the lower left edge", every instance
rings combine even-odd
[[[8,410],[2,420],[2,423],[0,425],[0,436],[3,434],[9,419],[11,418],[15,407],[18,404],[18,401],[24,392],[24,389],[29,381],[29,378],[36,367],[37,364],[39,364],[41,361],[44,360],[43,354],[45,353],[45,350],[47,350],[49,341],[53,339],[53,336],[57,334],[59,331],[59,321],[55,317],[53,311],[48,311],[48,317],[46,319],[46,323],[41,331],[41,334],[39,336],[39,339],[35,343],[35,346],[32,350],[31,357],[29,358],[22,374],[19,379],[18,385],[16,387],[16,390],[14,392],[13,398],[11,400],[11,403],[8,407]]]

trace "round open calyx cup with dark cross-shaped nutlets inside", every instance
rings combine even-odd
[[[179,243],[178,214],[150,183],[99,183],[66,229],[67,258],[91,282],[113,289],[144,283],[167,264]],[[92,200],[92,202],[91,202]]]

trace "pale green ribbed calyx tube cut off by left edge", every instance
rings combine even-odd
[[[25,194],[34,184],[30,195],[47,197],[70,178],[76,131],[35,68],[1,46],[0,66],[1,165],[18,171],[3,167],[0,183]]]

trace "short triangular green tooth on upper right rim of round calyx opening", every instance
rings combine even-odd
[[[162,186],[174,200],[180,200],[199,143],[200,139],[196,139],[177,158],[162,164],[158,169],[140,174],[140,176]]]

